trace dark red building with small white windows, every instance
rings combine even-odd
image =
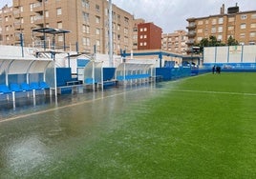
[[[154,23],[140,23],[138,25],[138,50],[160,50],[161,33],[160,27]]]

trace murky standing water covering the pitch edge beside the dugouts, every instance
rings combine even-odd
[[[35,106],[31,100],[17,100],[15,110],[1,109],[0,178],[33,178],[64,165],[87,141],[124,122],[117,114],[157,94],[147,85],[61,95],[57,105],[45,96],[36,98]]]

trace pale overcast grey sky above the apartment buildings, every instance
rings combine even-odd
[[[0,0],[0,7],[11,5],[12,0]],[[186,19],[220,13],[222,5],[228,7],[238,3],[241,11],[256,10],[256,0],[112,0],[122,10],[153,22],[163,32],[186,30]]]

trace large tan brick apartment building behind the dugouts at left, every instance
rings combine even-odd
[[[13,0],[12,7],[0,12],[2,44],[38,46],[46,41],[49,47],[61,47],[65,40],[68,50],[108,53],[109,3],[107,0]],[[133,48],[134,16],[113,5],[113,49]],[[35,29],[53,28],[70,32],[46,34]]]

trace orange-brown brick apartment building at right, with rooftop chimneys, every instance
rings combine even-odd
[[[220,14],[199,18],[188,18],[188,50],[203,38],[214,35],[218,40],[227,43],[231,36],[240,44],[256,43],[256,10],[240,11],[239,7],[230,7],[225,13],[224,5]]]

